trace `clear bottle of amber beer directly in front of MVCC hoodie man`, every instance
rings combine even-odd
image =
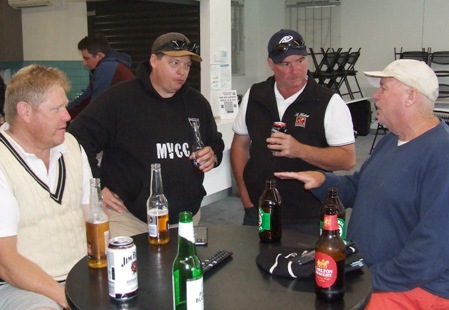
[[[168,201],[162,186],[161,164],[151,164],[151,192],[147,201],[148,241],[153,245],[170,241]]]

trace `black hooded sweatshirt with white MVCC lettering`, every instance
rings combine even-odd
[[[94,177],[117,193],[136,217],[146,222],[150,194],[150,165],[160,163],[170,223],[181,211],[196,214],[206,195],[204,174],[189,159],[193,128],[198,119],[203,142],[221,162],[224,142],[217,131],[209,102],[184,85],[172,98],[162,98],[151,85],[150,67],[143,62],[137,77],[111,87],[69,126],[84,147]],[[103,152],[98,167],[96,156]]]

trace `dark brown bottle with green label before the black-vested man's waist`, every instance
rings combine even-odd
[[[259,199],[259,238],[270,243],[282,237],[282,201],[276,189],[276,180],[267,180]]]

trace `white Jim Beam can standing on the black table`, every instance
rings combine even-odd
[[[109,240],[108,250],[109,296],[126,301],[137,295],[137,253],[130,237]]]

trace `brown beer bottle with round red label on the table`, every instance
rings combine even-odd
[[[323,232],[315,245],[315,293],[318,299],[334,302],[345,294],[346,247],[339,235],[338,207],[325,206]]]

